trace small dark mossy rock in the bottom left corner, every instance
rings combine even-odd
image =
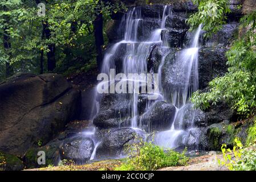
[[[16,155],[0,152],[0,171],[21,171],[23,162]]]

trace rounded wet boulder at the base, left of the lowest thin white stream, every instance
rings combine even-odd
[[[76,164],[83,164],[90,160],[94,147],[94,142],[90,138],[69,138],[60,148],[60,156],[62,160],[73,160]]]

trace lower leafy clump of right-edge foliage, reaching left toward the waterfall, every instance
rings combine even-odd
[[[250,73],[243,71],[229,72],[223,77],[217,77],[210,81],[209,92],[195,92],[192,102],[196,107],[207,109],[210,102],[216,105],[217,102],[225,100],[240,114],[252,114],[251,107],[256,106],[255,85],[251,82]]]

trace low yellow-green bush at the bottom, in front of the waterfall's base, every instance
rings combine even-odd
[[[186,149],[181,154],[172,150],[164,151],[152,142],[133,143],[128,151],[127,161],[115,170],[151,171],[162,167],[185,166],[188,162]]]

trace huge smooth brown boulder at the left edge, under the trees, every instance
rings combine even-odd
[[[61,75],[21,73],[0,84],[0,151],[23,155],[79,114],[80,92]]]

